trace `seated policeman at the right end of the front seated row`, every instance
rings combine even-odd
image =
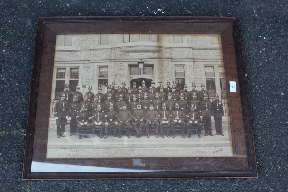
[[[191,126],[197,126],[198,137],[201,138],[202,123],[200,123],[200,115],[195,111],[195,106],[193,104],[190,105],[190,109],[191,111],[186,115],[188,138],[191,138]]]

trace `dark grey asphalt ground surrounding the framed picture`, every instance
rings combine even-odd
[[[0,7],[0,191],[287,191],[287,0],[2,0]],[[238,16],[259,178],[21,180],[37,18],[79,15]]]

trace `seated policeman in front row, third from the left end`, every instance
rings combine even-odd
[[[105,115],[105,136],[104,139],[107,139],[108,137],[108,128],[109,126],[114,126],[114,130],[113,130],[113,136],[116,136],[117,133],[117,128],[118,128],[118,122],[117,122],[117,114],[116,111],[113,111],[114,109],[114,105],[110,104],[110,111],[108,111]]]

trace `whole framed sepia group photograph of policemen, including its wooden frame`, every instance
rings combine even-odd
[[[23,179],[257,177],[237,17],[41,17]]]

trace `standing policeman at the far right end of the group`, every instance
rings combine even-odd
[[[219,101],[219,95],[215,93],[215,100],[212,101],[213,109],[214,109],[214,121],[215,121],[215,135],[223,135],[222,130],[222,117],[224,116],[223,104]]]

